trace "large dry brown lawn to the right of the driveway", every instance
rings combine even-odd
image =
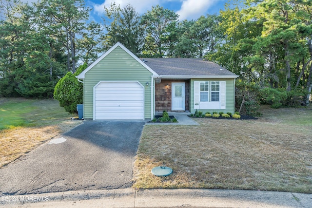
[[[252,189],[312,193],[312,108],[262,107],[258,120],[194,118],[200,126],[146,125],[135,188]],[[151,169],[174,170],[156,177]]]

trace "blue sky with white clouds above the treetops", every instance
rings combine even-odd
[[[127,3],[133,5],[139,14],[144,14],[152,9],[152,6],[162,6],[166,9],[174,10],[184,19],[198,19],[201,15],[218,14],[220,9],[224,9],[224,4],[229,0],[86,0],[86,5],[93,11],[90,13],[90,20],[100,21],[103,17],[104,6],[109,7],[112,2],[120,4],[121,8]]]

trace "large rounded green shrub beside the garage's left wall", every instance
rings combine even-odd
[[[54,99],[59,100],[59,105],[68,113],[77,113],[77,104],[83,104],[83,84],[76,76],[86,68],[87,64],[83,64],[76,73],[68,72],[54,88]]]

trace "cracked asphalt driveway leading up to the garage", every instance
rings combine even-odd
[[[0,195],[129,188],[144,124],[84,122],[0,169]]]

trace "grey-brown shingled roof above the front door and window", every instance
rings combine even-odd
[[[202,58],[141,58],[162,77],[238,77],[218,64]]]

